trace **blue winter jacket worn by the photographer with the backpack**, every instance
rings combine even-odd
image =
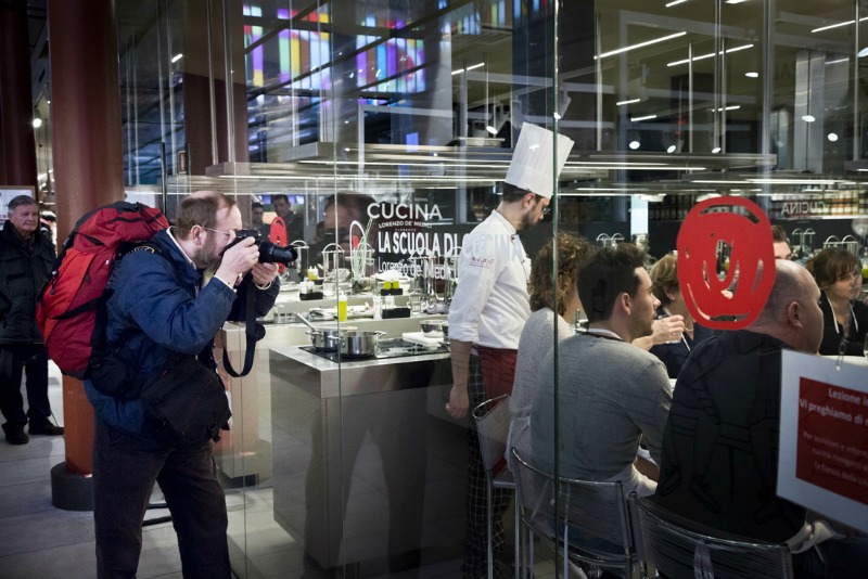
[[[146,249],[127,254],[106,305],[108,344],[144,381],[156,377],[176,353],[196,356],[212,345],[230,318],[237,297],[219,280],[206,284],[196,295],[202,272],[190,265],[166,231],[157,233],[149,245],[162,255]],[[278,280],[266,291],[255,290],[257,316],[268,312],[279,290]],[[243,306],[243,299],[239,304]],[[153,438],[139,399],[103,395],[90,381],[85,381],[85,391],[97,415],[110,426]]]

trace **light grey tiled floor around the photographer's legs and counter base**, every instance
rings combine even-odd
[[[51,369],[49,395],[56,421],[63,425],[60,373]],[[0,439],[0,578],[92,579],[97,576],[93,520],[90,512],[72,512],[51,504],[51,467],[64,461],[63,437],[33,436],[27,445]],[[267,485],[267,483],[266,483]],[[265,485],[264,485],[265,487]],[[153,502],[159,502],[158,490]],[[303,550],[273,519],[271,489],[227,490],[230,550],[239,577],[292,579],[337,576],[306,565]],[[167,515],[149,511],[148,518]],[[143,528],[139,577],[181,578],[177,539],[170,523]],[[241,554],[246,551],[246,559]],[[552,557],[537,550],[535,577],[554,577]],[[235,562],[246,561],[239,566]],[[359,565],[343,576],[391,578],[460,577],[460,558],[423,553],[419,566],[400,572]]]

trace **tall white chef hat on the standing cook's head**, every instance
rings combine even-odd
[[[554,133],[542,127],[524,123],[519,143],[512,153],[507,171],[507,183],[551,197],[554,192],[553,164]],[[573,140],[558,136],[558,175],[561,173],[566,157],[573,149]]]

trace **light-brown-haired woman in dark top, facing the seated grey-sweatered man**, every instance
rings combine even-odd
[[[677,378],[690,350],[700,342],[711,337],[713,331],[697,323],[690,314],[678,284],[678,259],[675,256],[664,256],[654,263],[651,269],[651,291],[660,300],[658,318],[680,316],[684,319],[684,332],[675,339],[651,347],[651,353],[666,365],[669,377]]]

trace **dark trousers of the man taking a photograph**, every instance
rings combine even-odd
[[[165,449],[116,430],[99,417],[93,434],[98,577],[136,577],[142,522],[155,481],[178,535],[183,577],[229,578],[226,498],[210,441]]]

